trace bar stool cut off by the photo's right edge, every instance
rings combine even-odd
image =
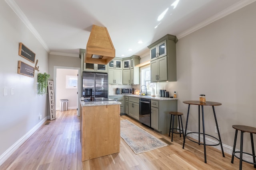
[[[242,170],[242,161],[247,162],[249,164],[254,164],[254,168],[256,168],[256,162],[255,162],[255,152],[254,152],[254,143],[253,143],[253,137],[252,134],[256,134],[256,128],[255,127],[250,127],[250,126],[244,126],[244,125],[233,125],[232,126],[234,129],[236,129],[236,133],[235,133],[235,140],[234,140],[234,147],[233,147],[233,152],[232,152],[232,159],[231,159],[231,163],[233,164],[234,162],[234,156],[238,159],[240,159],[240,164],[239,164],[239,169]],[[241,131],[241,140],[240,140],[240,151],[236,151],[236,138],[237,138],[237,132]],[[251,143],[252,143],[252,154],[247,153],[247,152],[243,152],[243,136],[244,136],[244,132],[248,132],[250,133],[251,136]],[[240,153],[240,157],[236,156],[236,153]],[[252,156],[253,158],[253,162],[248,162],[246,160],[243,160],[243,154],[248,154],[250,156]]]

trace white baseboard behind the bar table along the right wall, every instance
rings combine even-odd
[[[185,132],[185,129],[184,129],[184,132]],[[188,131],[188,130],[187,130],[187,133],[190,133],[190,132],[191,132],[191,131]],[[188,134],[188,136],[198,141],[198,134],[197,134],[197,133],[190,133],[190,134]],[[186,140],[188,140],[188,139],[186,139]],[[200,136],[200,141],[201,141],[201,142],[204,141],[204,139],[203,139],[202,136]],[[205,142],[206,142],[207,144],[217,144],[217,143],[219,143],[218,141],[215,141],[215,140],[213,140],[213,139],[211,139],[211,138],[208,138],[208,137],[205,138]],[[220,145],[212,146],[212,147],[214,147],[214,148],[216,148],[216,149],[218,149],[218,150],[221,151]],[[230,146],[225,145],[225,144],[223,144],[223,143],[222,143],[222,147],[223,147],[224,153],[227,153],[227,154],[232,155],[233,147],[230,147]],[[185,145],[185,148],[186,148],[186,145]],[[235,151],[240,151],[240,150],[236,149]],[[250,157],[250,156],[248,156],[248,155],[244,155],[244,154],[243,154],[243,160],[246,160],[246,161],[249,161],[249,162],[253,162],[252,157]],[[231,160],[230,160],[230,161],[231,161]]]

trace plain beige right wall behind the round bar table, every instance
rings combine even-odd
[[[255,9],[256,2],[179,39],[177,82],[158,84],[158,90],[177,92],[183,122],[188,105],[182,101],[198,100],[199,94],[205,94],[207,101],[222,103],[215,107],[216,116],[222,143],[230,147],[235,133],[232,125],[256,126]],[[217,137],[212,107],[204,108],[206,133]],[[188,130],[197,129],[198,107],[191,106]],[[248,133],[244,149],[251,152]]]

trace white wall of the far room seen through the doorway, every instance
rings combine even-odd
[[[60,109],[60,99],[68,99],[68,109],[77,108],[78,87],[66,88],[66,76],[77,76],[78,70],[57,69],[56,73],[56,110]]]

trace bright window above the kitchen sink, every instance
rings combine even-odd
[[[155,83],[150,82],[150,66],[145,66],[141,68],[141,86],[146,85],[147,91],[151,92],[152,88],[155,87]],[[144,89],[144,88],[143,88]]]

